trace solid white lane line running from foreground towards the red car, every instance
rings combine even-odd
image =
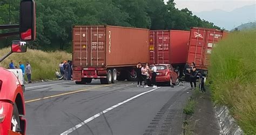
[[[126,99],[126,100],[124,100],[123,102],[118,103],[118,104],[116,104],[116,105],[113,105],[113,106],[109,107],[108,109],[106,109],[106,110],[104,110],[104,111],[102,111],[102,112],[99,112],[99,113],[95,114],[94,116],[92,116],[92,117],[90,117],[90,118],[84,120],[84,122],[79,123],[79,124],[77,124],[77,125],[74,126],[74,127],[71,127],[69,130],[67,130],[67,131],[65,131],[65,132],[63,132],[63,133],[60,133],[60,135],[69,134],[69,133],[71,133],[71,132],[77,130],[79,127],[85,125],[86,123],[91,122],[91,120],[93,120],[93,119],[95,119],[95,118],[101,116],[103,113],[106,113],[106,112],[108,112],[108,111],[110,111],[110,110],[112,110],[112,109],[114,109],[114,108],[116,108],[116,107],[118,107],[118,106],[120,106],[120,105],[126,103],[126,102],[129,102],[130,100],[132,100],[132,99],[134,99],[134,98],[140,97],[140,96],[142,96],[142,95],[144,95],[144,94],[146,94],[146,93],[155,91],[155,90],[157,90],[157,89],[159,89],[159,88],[160,88],[160,87],[157,87],[157,88],[152,89],[152,90],[150,90],[150,91],[146,91],[146,92],[140,93],[139,95],[136,95],[136,96],[134,96],[134,97],[131,97],[131,98],[129,98],[129,99]]]

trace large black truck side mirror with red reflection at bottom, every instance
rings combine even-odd
[[[36,7],[33,0],[22,0],[19,10],[19,37],[24,41],[36,38]]]

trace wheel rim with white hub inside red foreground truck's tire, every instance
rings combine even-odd
[[[12,117],[11,117],[11,131],[14,132],[20,132],[21,124],[19,123],[19,112],[18,107],[16,104],[14,104],[14,109],[12,111]]]

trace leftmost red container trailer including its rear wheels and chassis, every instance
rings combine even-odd
[[[135,80],[134,67],[149,62],[149,30],[121,26],[73,26],[73,80],[101,84]]]

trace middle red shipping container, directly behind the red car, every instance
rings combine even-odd
[[[150,30],[150,64],[185,64],[190,31]]]

